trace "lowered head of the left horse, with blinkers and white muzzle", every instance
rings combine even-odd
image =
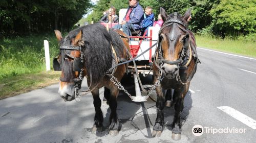
[[[72,101],[75,99],[77,82],[86,75],[85,68],[81,63],[83,58],[81,53],[82,31],[75,37],[68,35],[62,38],[61,33],[55,30],[55,35],[60,45],[60,54],[53,61],[54,69],[61,70],[58,93],[65,101]]]

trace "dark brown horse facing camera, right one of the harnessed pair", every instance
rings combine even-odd
[[[199,62],[196,53],[195,36],[187,30],[188,18],[191,11],[184,16],[178,13],[167,16],[160,8],[164,20],[159,31],[158,48],[153,64],[154,83],[160,82],[157,92],[157,118],[153,127],[153,136],[160,136],[164,128],[164,91],[174,89],[175,115],[172,123],[172,138],[181,139],[180,114],[183,110],[183,101],[189,89],[189,84],[196,73]]]

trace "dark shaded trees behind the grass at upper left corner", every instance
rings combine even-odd
[[[89,0],[0,1],[1,35],[70,29],[91,7]]]

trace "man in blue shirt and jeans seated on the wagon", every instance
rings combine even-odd
[[[125,17],[119,25],[114,26],[114,29],[123,29],[123,32],[132,36],[131,29],[139,30],[142,28],[143,9],[139,4],[139,0],[129,0],[129,8]]]

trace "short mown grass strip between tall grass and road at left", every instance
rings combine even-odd
[[[59,76],[60,71],[43,71],[4,78],[0,80],[0,99],[58,83]]]

